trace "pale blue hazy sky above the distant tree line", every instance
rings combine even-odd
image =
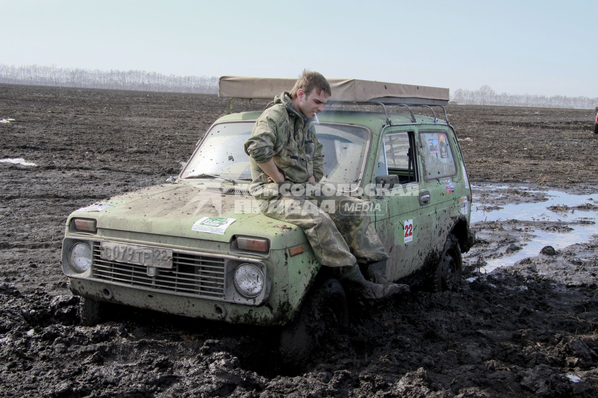
[[[598,1],[0,0],[0,63],[598,97]]]

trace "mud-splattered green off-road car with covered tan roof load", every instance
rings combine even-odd
[[[324,145],[322,183],[370,211],[390,255],[389,280],[435,290],[458,285],[461,253],[474,235],[471,187],[442,106],[449,90],[329,82],[332,105],[314,121]],[[228,76],[219,95],[271,99],[293,84]],[[389,106],[405,113],[390,113]],[[414,115],[413,106],[429,115]],[[219,118],[174,183],[69,215],[62,269],[72,292],[84,298],[84,323],[97,322],[105,301],[221,322],[287,325],[291,334],[316,313],[325,323],[347,321],[344,289],[315,260],[303,230],[260,214],[249,195],[243,144],[258,116]]]

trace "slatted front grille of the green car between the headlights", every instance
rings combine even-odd
[[[224,297],[224,258],[173,251],[172,269],[156,268],[149,276],[145,266],[100,258],[100,243],[93,244],[93,277],[152,289],[197,297]]]

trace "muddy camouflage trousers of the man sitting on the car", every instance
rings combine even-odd
[[[323,266],[350,267],[388,258],[370,215],[348,196],[329,191],[279,195],[262,201],[260,211],[303,228]]]

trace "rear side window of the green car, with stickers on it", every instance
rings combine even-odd
[[[426,181],[457,175],[453,150],[446,131],[423,131],[419,133],[419,140]]]

